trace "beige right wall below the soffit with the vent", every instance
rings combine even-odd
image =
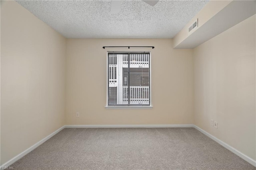
[[[256,159],[255,15],[194,49],[195,125]],[[218,122],[218,129],[210,125]]]

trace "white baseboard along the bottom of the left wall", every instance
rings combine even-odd
[[[22,158],[23,156],[25,156],[26,154],[28,154],[29,152],[31,152],[32,150],[34,150],[35,148],[40,146],[42,143],[46,142],[46,140],[50,139],[52,136],[54,136],[55,134],[57,134],[58,132],[60,132],[60,130],[62,130],[64,128],[65,128],[65,125],[63,127],[59,128],[58,130],[52,132],[51,134],[49,134],[48,136],[46,136],[45,138],[43,138],[42,140],[40,140],[36,144],[30,146],[29,148],[27,148],[26,150],[24,150],[23,152],[21,152],[17,156],[14,156],[12,159],[10,159],[7,162],[5,162],[4,164],[2,164],[1,167],[2,166],[10,166],[14,162],[16,162],[17,160],[19,160],[20,158]]]

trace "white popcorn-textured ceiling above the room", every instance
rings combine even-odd
[[[123,0],[118,14],[111,0],[16,2],[66,38],[173,38],[208,0]]]

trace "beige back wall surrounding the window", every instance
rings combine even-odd
[[[102,48],[117,45],[155,48]],[[151,51],[153,109],[105,109],[108,50]],[[191,49],[172,49],[170,39],[67,39],[66,55],[67,125],[194,123]]]

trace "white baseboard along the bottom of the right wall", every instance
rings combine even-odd
[[[197,130],[199,130],[200,132],[202,132],[203,134],[205,134],[206,136],[208,136],[209,138],[211,138],[212,140],[214,140],[214,141],[217,142],[218,144],[224,146],[226,149],[230,150],[231,152],[233,152],[234,154],[236,154],[236,155],[239,156],[240,158],[246,160],[247,162],[249,162],[249,163],[252,164],[253,166],[256,166],[256,160],[253,160],[252,158],[250,158],[249,156],[246,156],[245,154],[243,154],[243,153],[240,152],[239,150],[236,150],[235,148],[233,148],[233,147],[230,146],[229,144],[226,144],[226,143],[223,142],[222,140],[216,138],[215,136],[212,136],[210,133],[204,131],[204,130],[201,129],[200,127],[197,127],[196,125],[194,125],[194,128],[196,128]]]

